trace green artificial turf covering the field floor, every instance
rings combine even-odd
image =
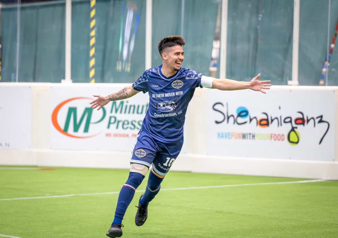
[[[119,192],[127,177],[128,170],[119,169],[0,169],[0,236],[106,237],[118,193],[91,193]],[[122,237],[338,237],[338,181],[166,190],[300,180],[306,179],[170,171],[147,222],[137,227],[135,206],[146,176]]]

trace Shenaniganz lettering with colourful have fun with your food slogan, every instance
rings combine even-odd
[[[320,130],[319,137],[303,138],[304,140],[317,140],[320,145],[330,129],[330,122],[325,119],[323,114],[313,115],[305,114],[305,112],[297,111],[297,116],[291,115],[273,115],[267,112],[258,114],[250,114],[249,109],[245,106],[237,108],[230,108],[231,104],[228,102],[225,105],[222,102],[216,102],[212,105],[212,109],[217,112],[215,124],[232,124],[240,128],[243,125],[250,125],[260,128],[283,128],[285,133],[235,133],[235,132],[217,132],[219,139],[234,139],[234,140],[268,140],[268,141],[287,141],[290,145],[297,145],[300,142],[301,133],[298,127],[307,127],[308,129]],[[279,106],[281,111],[281,106]]]

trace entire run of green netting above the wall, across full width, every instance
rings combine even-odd
[[[162,63],[157,50],[159,41],[167,35],[183,32],[186,39],[183,66],[209,75],[219,1],[184,2],[182,18],[182,0],[153,0],[152,66]],[[327,51],[328,2],[300,1],[300,85],[318,85]],[[130,34],[126,34],[127,13],[131,8]],[[145,0],[96,1],[96,82],[133,82],[144,71],[145,8]],[[338,0],[331,0],[329,44],[334,35],[337,10]],[[2,7],[1,14],[2,81],[16,81],[17,8]],[[129,70],[131,38],[138,14]],[[73,1],[71,70],[74,82],[90,81],[89,24],[90,1]],[[292,79],[292,33],[293,0],[228,0],[226,77],[250,80],[260,72],[262,78],[271,79],[274,85],[286,85]],[[128,49],[123,56],[125,45]],[[331,58],[329,85],[338,85],[337,53],[335,50]],[[117,67],[119,58],[121,69]],[[219,62],[217,66],[219,70]],[[22,5],[19,81],[60,82],[64,77],[65,3]]]

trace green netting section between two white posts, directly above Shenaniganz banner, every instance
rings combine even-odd
[[[274,85],[292,74],[293,0],[229,0],[226,77],[247,81],[258,73]]]

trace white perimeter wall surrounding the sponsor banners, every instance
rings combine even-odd
[[[50,97],[50,88],[58,87],[63,90],[64,87],[73,87],[74,97],[76,97],[83,96],[77,95],[76,88],[88,87],[94,92],[98,87],[107,87],[107,84],[1,83],[0,95],[1,90],[8,86],[31,87],[31,146],[23,149],[0,148],[0,164],[129,168],[130,152],[51,149],[53,125],[51,123],[50,100],[53,99]],[[122,87],[123,85],[118,86]],[[210,115],[206,113],[207,98],[208,93],[214,91],[196,89],[186,117],[186,131],[189,132],[185,136],[187,153],[180,154],[171,170],[338,180],[338,87],[273,86],[273,89],[282,90],[285,93],[290,89],[311,90],[313,93],[323,90],[335,91],[333,106],[325,108],[335,114],[334,122],[331,123],[331,128],[334,130],[332,138],[334,140],[334,161],[309,161],[298,158],[292,160],[289,158],[273,159],[273,154],[271,158],[208,155],[210,125],[207,122]],[[273,94],[273,89],[268,94]],[[90,97],[91,95],[84,96]],[[226,92],[224,92],[224,97],[226,97]],[[10,98],[2,98],[1,100],[3,100],[3,105],[10,105]],[[323,102],[323,106],[326,106],[325,102]],[[13,115],[1,115],[1,111],[0,116],[13,117]],[[1,126],[4,125],[0,125],[0,128]],[[0,143],[1,138],[0,135]]]

